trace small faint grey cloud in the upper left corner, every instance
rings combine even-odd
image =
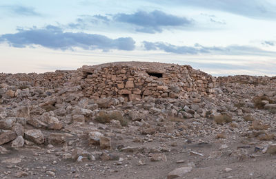
[[[20,16],[41,16],[39,12],[36,12],[32,7],[26,6],[0,6],[0,9],[8,10],[12,14],[17,14]]]

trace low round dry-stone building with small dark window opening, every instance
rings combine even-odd
[[[145,96],[178,98],[184,94],[213,94],[216,78],[189,65],[149,62],[119,62],[84,65],[81,87],[86,96],[124,96],[130,101]]]

